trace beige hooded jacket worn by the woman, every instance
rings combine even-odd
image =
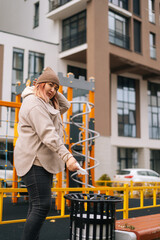
[[[60,114],[70,107],[67,99],[58,93],[60,111],[44,102],[27,87],[19,112],[19,137],[14,149],[14,162],[18,176],[24,176],[36,158],[50,173],[64,169],[64,163],[72,155],[63,143],[63,126]]]

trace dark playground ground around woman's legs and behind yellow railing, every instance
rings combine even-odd
[[[145,205],[151,205],[152,199],[144,200]],[[159,203],[158,203],[159,204]],[[130,207],[139,206],[139,199],[130,200]],[[117,208],[122,208],[122,203],[117,205]],[[3,220],[26,218],[28,203],[22,199],[18,204],[13,205],[10,198],[4,199]],[[49,213],[50,216],[55,215],[56,211],[53,207]],[[138,217],[160,213],[160,208],[150,208],[132,211],[129,217]],[[117,213],[117,219],[122,219],[123,214]],[[20,240],[24,223],[4,224],[0,225],[0,240]],[[55,222],[50,220],[45,221],[41,230],[39,240],[67,240],[69,239],[69,218],[56,219]]]

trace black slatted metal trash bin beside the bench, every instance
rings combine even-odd
[[[115,239],[116,203],[122,199],[104,194],[70,193],[70,240]]]

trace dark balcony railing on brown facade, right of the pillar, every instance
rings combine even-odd
[[[130,49],[130,38],[127,35],[118,33],[109,29],[109,42],[113,43],[119,47]]]

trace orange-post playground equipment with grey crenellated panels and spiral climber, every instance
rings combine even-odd
[[[38,76],[32,77],[27,80],[26,83],[18,83],[16,86],[16,102],[6,103],[7,107],[15,108],[15,122],[14,122],[14,146],[18,137],[17,124],[18,113],[21,105],[21,93],[26,86],[32,85],[34,79]],[[94,78],[90,78],[89,81],[85,81],[84,77],[76,79],[72,73],[69,73],[67,77],[64,77],[62,73],[58,73],[60,80],[59,91],[66,95],[67,99],[72,103],[71,108],[67,112],[64,125],[65,125],[65,144],[67,148],[73,152],[73,155],[83,168],[88,170],[88,176],[78,176],[77,173],[71,173],[66,170],[66,187],[76,187],[77,184],[87,186],[95,186],[94,180],[94,168],[98,165],[97,160],[94,158],[94,140],[99,134],[94,131],[94,90],[95,83]],[[76,98],[76,101],[74,99]],[[78,100],[77,100],[78,98]],[[1,106],[3,101],[1,101]],[[7,120],[8,121],[8,120]],[[9,122],[9,121],[8,121]],[[7,138],[6,138],[7,141]],[[7,157],[6,157],[7,159]],[[6,162],[7,165],[7,162]],[[62,187],[62,175],[57,174],[56,187]],[[74,179],[74,181],[73,181]],[[13,168],[13,188],[18,187],[18,177],[16,175],[15,168]],[[56,207],[60,209],[61,193],[58,193],[56,199]],[[12,201],[17,201],[16,193],[12,195]]]

